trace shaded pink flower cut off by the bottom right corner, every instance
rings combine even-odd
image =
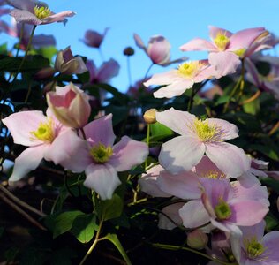
[[[240,227],[242,236],[232,236],[231,247],[239,264],[268,265],[279,263],[279,231],[264,235],[266,223]]]

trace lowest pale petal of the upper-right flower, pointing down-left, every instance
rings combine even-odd
[[[156,98],[172,98],[174,96],[182,95],[186,89],[189,89],[192,86],[192,80],[181,79],[177,82],[173,82],[169,86],[160,88],[159,90],[155,91],[153,95]]]

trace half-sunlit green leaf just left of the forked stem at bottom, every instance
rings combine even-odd
[[[98,230],[94,214],[78,216],[72,223],[72,234],[81,243],[87,243],[94,237]]]

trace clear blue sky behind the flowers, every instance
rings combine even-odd
[[[236,32],[248,27],[266,27],[279,35],[278,0],[45,0],[52,11],[72,10],[77,15],[68,20],[66,27],[60,23],[37,27],[36,33],[54,34],[57,49],[71,45],[73,54],[94,59],[101,64],[96,49],[88,48],[79,41],[87,29],[102,32],[110,30],[102,43],[105,59],[115,58],[121,64],[119,76],[112,85],[124,91],[128,87],[126,57],[123,49],[136,49],[131,57],[132,80],[142,78],[150,61],[143,50],[135,46],[132,35],[137,33],[147,43],[155,34],[164,35],[171,43],[171,57],[188,56],[204,58],[206,53],[185,53],[178,47],[194,37],[208,39],[208,25],[223,27]],[[1,42],[6,36],[0,35]],[[175,66],[175,65],[174,65]],[[173,66],[173,67],[174,67]],[[155,66],[151,73],[166,69]]]

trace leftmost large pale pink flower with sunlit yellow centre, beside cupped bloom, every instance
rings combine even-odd
[[[29,171],[36,169],[42,158],[51,161],[49,153],[63,155],[57,145],[54,148],[54,143],[67,128],[57,121],[50,110],[47,110],[47,117],[37,110],[21,111],[4,118],[2,122],[11,132],[14,143],[29,147],[16,158],[9,179],[11,182],[24,178]]]

